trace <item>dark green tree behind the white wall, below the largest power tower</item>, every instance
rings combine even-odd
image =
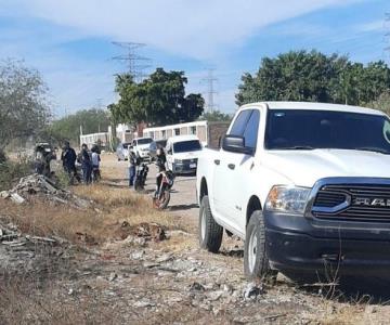
[[[121,75],[116,79],[119,102],[109,106],[117,121],[150,125],[193,121],[204,110],[200,94],[185,96],[187,79],[183,72],[166,72],[157,68],[147,79],[133,82],[131,76]]]

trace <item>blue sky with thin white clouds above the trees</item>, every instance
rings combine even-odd
[[[207,99],[212,68],[214,103],[230,114],[240,76],[264,56],[316,49],[390,64],[387,12],[389,0],[0,0],[0,60],[38,69],[62,117],[116,102],[127,66],[113,42],[141,42],[145,73],[183,70],[188,93]]]

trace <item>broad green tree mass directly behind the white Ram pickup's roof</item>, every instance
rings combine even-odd
[[[264,57],[253,76],[244,74],[238,105],[256,101],[307,101],[363,105],[390,88],[381,61],[364,66],[338,54],[291,51]]]

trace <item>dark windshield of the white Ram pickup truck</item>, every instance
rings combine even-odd
[[[306,109],[269,110],[266,150],[360,150],[390,154],[386,116]]]

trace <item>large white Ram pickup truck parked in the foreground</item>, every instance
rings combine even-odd
[[[247,277],[390,271],[390,120],[381,112],[264,102],[236,113],[197,168],[199,243],[245,240]]]

